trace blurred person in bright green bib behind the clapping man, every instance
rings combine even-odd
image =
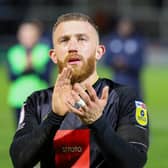
[[[22,103],[31,92],[45,88],[50,82],[48,43],[41,42],[42,25],[37,21],[22,23],[18,28],[18,44],[7,53],[11,80],[8,102],[19,120]]]

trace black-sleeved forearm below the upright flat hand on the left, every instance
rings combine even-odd
[[[18,131],[10,147],[14,167],[33,167],[40,160],[45,147],[52,143],[62,120],[63,117],[50,113],[34,130],[29,130],[28,133],[24,133],[24,129]]]

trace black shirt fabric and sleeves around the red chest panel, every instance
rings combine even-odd
[[[149,128],[135,119],[135,101],[141,101],[130,88],[99,79],[94,84],[98,96],[109,86],[108,103],[103,115],[91,125],[83,125],[73,113],[65,117],[52,112],[53,88],[33,93],[25,102],[24,120],[19,124],[10,147],[16,168],[31,168],[41,162],[42,168],[54,166],[53,137],[58,129],[88,128],[91,168],[141,168],[146,163]],[[67,121],[69,124],[67,124]],[[24,156],[24,157],[23,157]]]

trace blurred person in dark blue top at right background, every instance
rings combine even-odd
[[[144,65],[145,43],[135,31],[129,18],[121,18],[115,32],[108,34],[103,43],[106,46],[104,62],[114,72],[114,81],[134,87],[142,97],[141,71]]]

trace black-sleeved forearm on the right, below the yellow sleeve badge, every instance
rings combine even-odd
[[[119,137],[104,118],[101,117],[90,125],[90,128],[100,150],[109,163],[111,158],[115,158],[116,162],[121,164],[121,167],[143,167],[146,162],[146,152],[138,150],[138,148]]]

